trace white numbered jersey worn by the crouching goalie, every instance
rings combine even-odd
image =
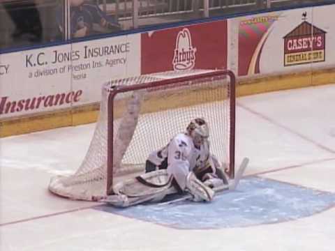
[[[206,169],[211,159],[209,141],[205,140],[196,147],[192,137],[184,133],[176,135],[167,146],[149,155],[148,160],[157,167],[167,160],[167,172],[177,181],[181,190],[186,188],[186,177],[189,172]],[[212,172],[215,174],[215,167]]]

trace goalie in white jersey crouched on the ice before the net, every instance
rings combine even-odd
[[[162,201],[174,193],[188,195],[193,201],[211,201],[216,188],[228,189],[229,183],[209,146],[207,122],[193,119],[185,132],[149,154],[145,174],[115,184],[114,195],[101,201],[126,207]]]

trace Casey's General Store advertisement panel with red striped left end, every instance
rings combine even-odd
[[[334,11],[330,5],[240,17],[239,76],[334,66]]]

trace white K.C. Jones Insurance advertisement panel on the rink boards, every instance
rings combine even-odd
[[[0,55],[0,118],[101,100],[110,79],[140,75],[140,35]]]

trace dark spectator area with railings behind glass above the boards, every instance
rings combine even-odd
[[[334,0],[0,0],[0,52],[204,17]]]

